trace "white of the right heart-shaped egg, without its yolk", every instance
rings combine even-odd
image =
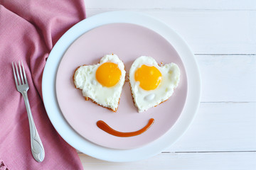
[[[139,81],[134,79],[136,70],[143,64],[156,67],[162,74],[161,83],[154,90],[146,91],[142,89],[139,86]],[[178,86],[180,75],[180,69],[177,64],[169,63],[160,67],[152,57],[142,56],[137,58],[129,69],[129,82],[134,105],[138,108],[139,113],[168,100],[174,93],[174,89]]]

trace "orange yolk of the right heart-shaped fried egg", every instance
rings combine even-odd
[[[159,69],[154,66],[142,65],[134,74],[135,81],[139,81],[139,86],[146,90],[154,90],[161,83],[162,75]]]

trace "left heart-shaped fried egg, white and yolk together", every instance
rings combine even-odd
[[[124,63],[117,55],[105,55],[99,64],[83,65],[75,70],[75,87],[82,96],[100,106],[117,111],[125,80]]]

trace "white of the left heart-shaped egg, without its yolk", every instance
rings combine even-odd
[[[118,83],[111,87],[102,86],[96,79],[97,69],[105,62],[117,64],[122,73]],[[76,88],[82,89],[82,96],[92,99],[92,101],[100,106],[117,111],[122,86],[124,85],[125,73],[124,63],[119,60],[117,55],[105,55],[99,64],[83,65],[76,69],[74,83]]]

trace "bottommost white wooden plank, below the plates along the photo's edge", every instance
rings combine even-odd
[[[233,169],[255,170],[256,152],[238,153],[169,153],[158,154],[155,157],[139,162],[113,163],[79,154],[84,169]]]

